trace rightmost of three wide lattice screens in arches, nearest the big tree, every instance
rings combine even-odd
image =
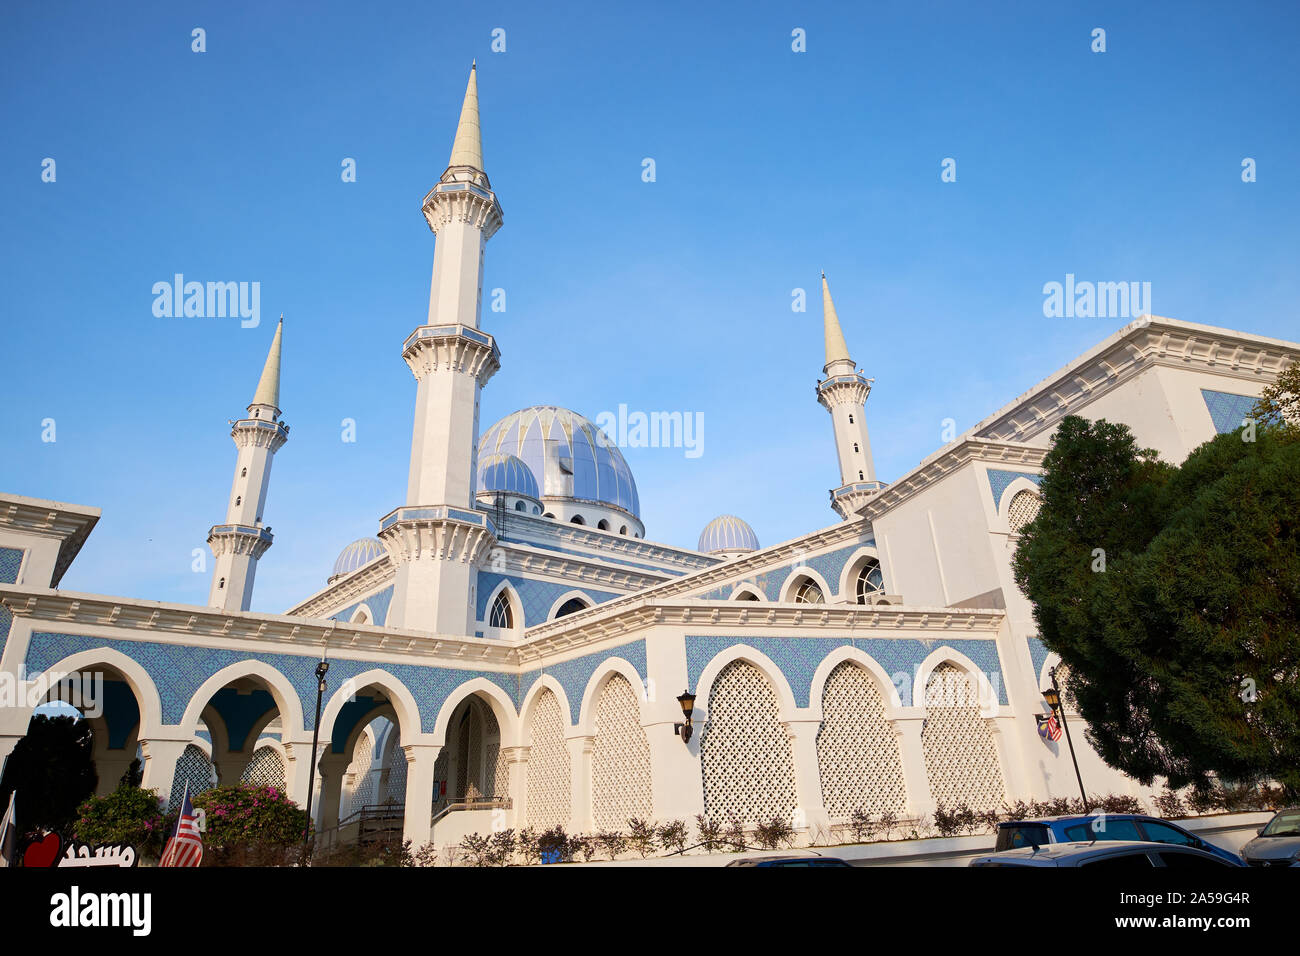
[[[920,747],[936,803],[974,810],[1002,805],[1006,787],[997,745],[979,714],[978,684],[966,671],[941,663],[926,682],[926,726]]]

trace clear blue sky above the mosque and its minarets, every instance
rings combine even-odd
[[[625,450],[647,537],[693,548],[720,512],[763,544],[832,524],[823,268],[875,377],[887,481],[944,419],[965,431],[1126,323],[1044,317],[1067,273],[1300,338],[1297,10],[8,0],[0,488],[103,509],[64,587],[204,604],[191,553],[225,515],[226,423],[283,312],[292,432],[254,609],[322,587],[403,503],[400,346],[434,245],[420,200],[477,57],[506,217],[482,425],[543,403],[699,412],[699,457]],[[156,317],[152,286],[178,272],[259,282],[261,325]]]

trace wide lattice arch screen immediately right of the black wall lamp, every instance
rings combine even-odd
[[[705,813],[714,822],[792,818],[794,758],[779,717],[776,692],[754,665],[732,661],[718,674],[699,739]]]

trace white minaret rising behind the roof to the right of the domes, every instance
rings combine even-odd
[[[867,395],[871,382],[853,359],[844,341],[840,317],[835,313],[831,287],[822,273],[822,321],[826,330],[826,377],[818,382],[816,399],[831,412],[835,449],[840,457],[840,486],[831,490],[831,507],[841,518],[852,518],[868,498],[884,488],[876,481],[867,437]]]

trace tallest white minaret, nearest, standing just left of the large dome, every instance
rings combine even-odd
[[[465,635],[474,619],[474,564],[495,541],[491,522],[473,505],[478,398],[500,368],[495,339],[478,330],[484,247],[502,215],[484,172],[477,66],[451,160],[424,198],[424,217],[437,235],[429,317],[402,347],[416,380],[411,471],[406,505],[380,520],[396,564],[386,623]]]

